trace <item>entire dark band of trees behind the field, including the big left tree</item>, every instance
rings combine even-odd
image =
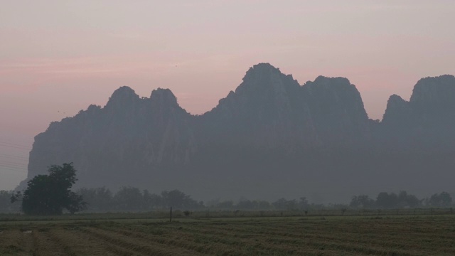
[[[347,210],[400,210],[419,208],[453,208],[451,195],[441,192],[429,198],[419,199],[417,196],[400,191],[400,193],[381,192],[376,199],[367,195],[353,196],[347,204],[315,204],[309,203],[306,197],[299,200],[279,198],[270,203],[264,200],[242,199],[238,202],[213,200],[203,203],[196,201],[182,191],[162,191],[161,194],[141,191],[139,188],[124,186],[112,193],[109,188],[80,188],[70,190],[77,181],[76,170],[73,164],[50,166],[48,175],[38,175],[28,181],[28,187],[21,191],[0,191],[0,213],[18,213],[22,211],[28,215],[61,215],[64,212],[77,213],[138,213],[159,210],[183,210],[188,217],[192,210],[225,210],[232,211],[237,217],[241,210],[259,211],[261,216],[267,212],[284,211],[298,212],[308,215],[322,210],[341,210],[345,215]],[[11,200],[10,200],[11,199]],[[11,202],[10,202],[11,201]],[[17,201],[21,201],[21,206]]]

